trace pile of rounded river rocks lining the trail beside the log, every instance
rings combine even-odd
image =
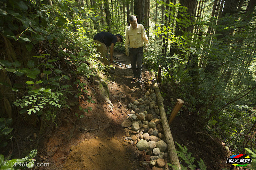
[[[128,107],[132,109],[131,113],[122,122],[125,140],[150,155],[152,169],[161,169],[165,165],[163,158],[168,155],[155,91],[149,89],[143,98],[133,101]]]

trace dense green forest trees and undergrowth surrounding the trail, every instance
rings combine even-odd
[[[8,146],[17,122],[39,127],[42,135],[70,107],[66,99],[74,85],[76,97],[84,96],[77,78],[106,69],[92,37],[102,31],[125,37],[129,16],[136,15],[149,37],[144,66],[155,72],[162,66],[162,96],[184,100],[180,114],[194,115],[198,127],[223,139],[229,150],[255,149],[255,5],[255,0],[1,0],[0,147]],[[115,50],[125,51],[123,44]],[[8,149],[1,150],[10,157]]]

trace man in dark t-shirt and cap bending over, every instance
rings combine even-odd
[[[108,48],[110,46],[110,63],[113,62],[113,52],[114,52],[114,45],[116,44],[116,42],[123,42],[123,37],[121,34],[112,34],[109,32],[101,32],[101,33],[97,33],[94,37],[93,37],[93,42],[100,44],[100,46],[96,46],[97,51],[100,52],[100,55],[103,57],[103,63],[104,64],[109,64],[109,61],[107,59],[108,56]]]

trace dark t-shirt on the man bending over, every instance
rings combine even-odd
[[[109,33],[109,32],[97,33],[93,37],[93,40],[98,40],[98,41],[104,43],[107,47],[109,47],[111,45],[111,43],[116,44],[116,42],[117,42],[116,35]]]

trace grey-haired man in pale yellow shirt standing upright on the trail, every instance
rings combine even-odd
[[[131,15],[129,18],[130,26],[126,29],[125,38],[125,54],[130,56],[132,64],[132,72],[134,77],[132,80],[138,78],[138,82],[141,83],[141,70],[142,70],[142,58],[143,58],[143,45],[145,44],[145,52],[148,51],[148,36],[146,34],[143,25],[137,23],[137,18]],[[130,47],[130,55],[128,48]],[[137,64],[137,66],[136,66]]]

